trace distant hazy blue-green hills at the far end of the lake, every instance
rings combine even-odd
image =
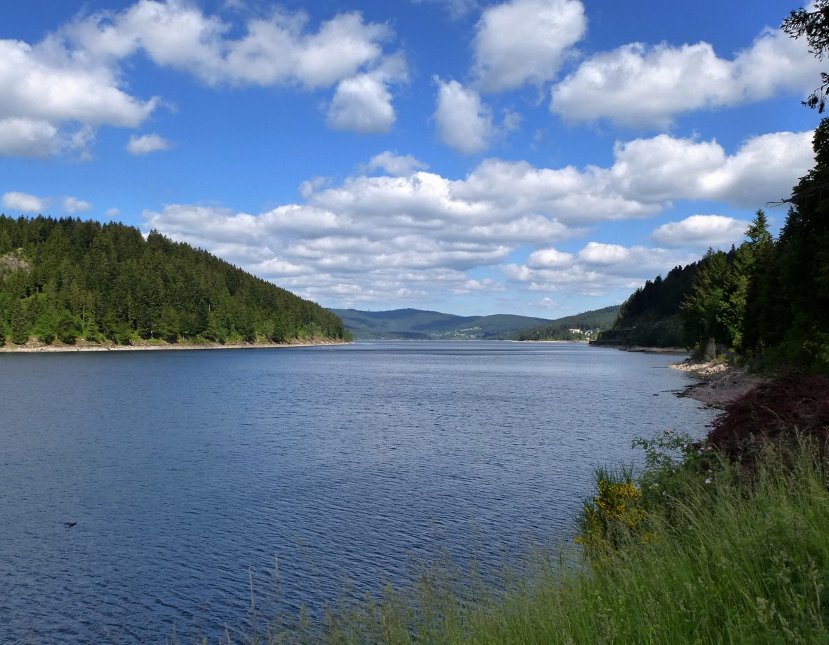
[[[343,324],[351,331],[355,340],[497,340],[513,338],[526,329],[551,326],[556,322],[569,322],[576,318],[569,316],[550,320],[509,313],[458,316],[453,313],[411,308],[380,312],[358,309],[330,311],[342,318]],[[610,322],[614,317],[615,311]]]

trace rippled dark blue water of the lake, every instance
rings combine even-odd
[[[0,643],[216,642],[410,555],[571,536],[593,468],[701,434],[676,356],[579,343],[0,355]],[[77,522],[65,526],[65,522]]]

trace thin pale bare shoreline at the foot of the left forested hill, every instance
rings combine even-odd
[[[0,354],[69,353],[69,352],[146,352],[154,350],[207,350],[207,349],[282,349],[285,347],[325,347],[329,345],[350,345],[350,342],[332,339],[314,339],[297,342],[136,342],[133,345],[116,345],[79,340],[74,345],[60,341],[51,345],[41,341],[29,341],[24,345],[6,344],[0,347]]]

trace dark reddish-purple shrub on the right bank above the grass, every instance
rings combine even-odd
[[[780,443],[797,434],[829,439],[829,378],[790,372],[725,406],[708,441],[731,459],[753,461],[765,441]]]

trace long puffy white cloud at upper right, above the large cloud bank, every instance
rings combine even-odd
[[[610,119],[665,129],[676,114],[733,107],[778,92],[811,91],[821,71],[801,40],[767,29],[733,60],[706,43],[632,43],[597,54],[552,90],[550,109],[565,121]]]

